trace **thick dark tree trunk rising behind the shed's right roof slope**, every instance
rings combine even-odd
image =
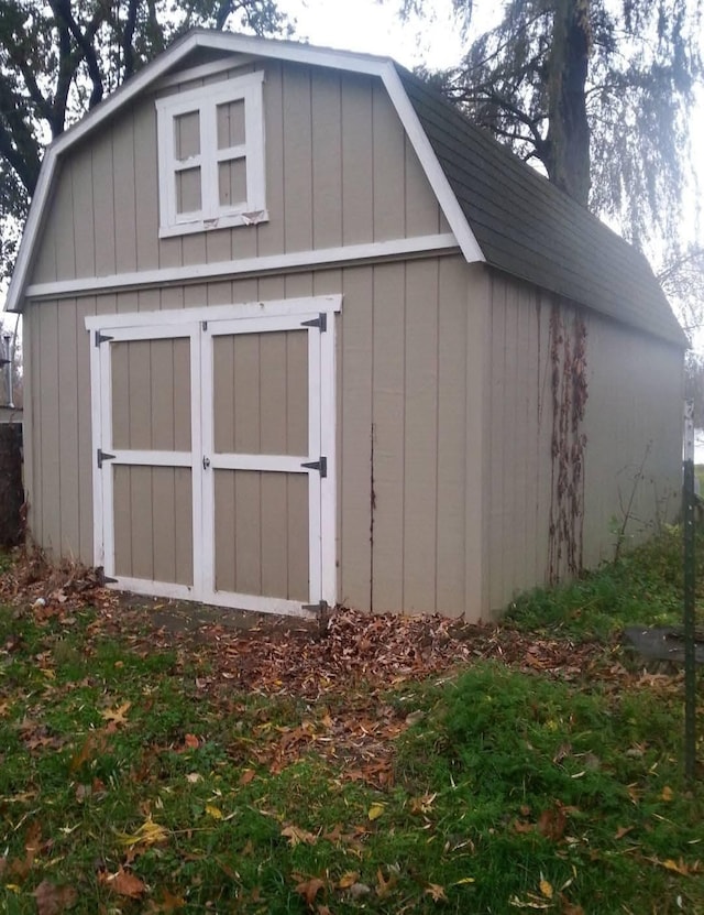
[[[548,61],[548,176],[578,203],[590,196],[590,127],[586,76],[591,43],[590,0],[556,0]]]

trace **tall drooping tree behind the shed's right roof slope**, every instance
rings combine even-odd
[[[472,0],[453,0],[466,30]],[[425,0],[405,0],[406,12]],[[506,0],[430,75],[524,160],[632,241],[679,238],[701,0]],[[469,31],[466,32],[469,34]]]

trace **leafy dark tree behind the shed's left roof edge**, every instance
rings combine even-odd
[[[275,0],[0,0],[0,276],[46,143],[194,25],[287,30]]]

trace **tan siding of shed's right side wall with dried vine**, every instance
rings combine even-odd
[[[584,322],[586,367],[586,406],[579,424],[580,435],[585,436],[586,504],[583,523],[574,519],[584,566],[613,558],[615,526],[623,520],[622,505],[631,491],[636,498],[627,525],[628,543],[651,532],[658,518],[671,519],[676,511],[680,352],[595,313],[578,313],[565,303],[556,313],[553,305],[552,296],[493,274],[487,350],[487,578],[493,611],[504,609],[521,590],[568,574],[565,544],[558,543],[550,553],[557,475],[563,457],[556,455],[562,446],[556,439],[560,433],[559,425],[553,426],[553,397],[559,401],[558,412],[570,413],[563,414],[563,421],[572,422],[574,393],[570,391],[570,400],[563,400],[562,374],[565,351],[574,356],[575,318]],[[559,326],[551,327],[553,320]],[[634,475],[648,443],[646,479],[634,490]]]

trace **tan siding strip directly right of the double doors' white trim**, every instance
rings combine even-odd
[[[370,268],[343,273],[341,352],[341,577],[340,599],[370,609],[374,282]]]

